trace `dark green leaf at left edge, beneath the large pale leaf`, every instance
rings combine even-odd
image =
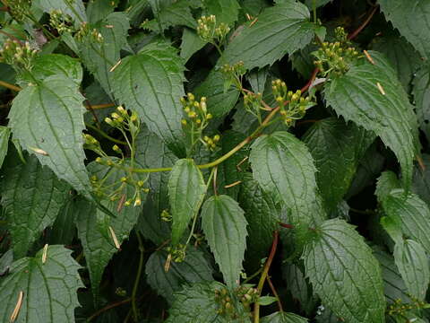
[[[42,231],[56,221],[70,187],[42,166],[35,156],[10,153],[4,164],[1,204],[6,210],[16,259],[25,257]]]

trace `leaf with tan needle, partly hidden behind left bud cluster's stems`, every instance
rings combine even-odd
[[[103,187],[108,188],[107,195],[113,193],[120,185],[120,179],[128,175],[125,170],[110,168],[96,162],[90,163],[89,171],[92,177],[95,176],[98,180],[104,179]],[[115,183],[116,186],[114,185]],[[125,200],[133,198],[134,188],[126,185],[121,191],[122,194],[125,194]],[[121,245],[128,238],[134,224],[137,223],[139,214],[142,212],[141,207],[133,205],[124,206],[118,211],[121,197],[116,201],[102,201],[102,204],[116,215],[115,218],[108,216],[96,209],[95,205],[82,199],[78,200],[77,204],[74,205],[78,214],[76,219],[78,237],[82,242],[83,252],[90,272],[91,290],[95,301],[99,300],[99,283],[105,266],[118,251],[116,241]],[[146,195],[141,196],[142,203],[144,203],[145,198]]]

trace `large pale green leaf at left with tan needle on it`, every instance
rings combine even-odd
[[[8,118],[13,138],[25,150],[88,196],[92,188],[83,163],[83,100],[71,79],[49,76],[18,93]]]

